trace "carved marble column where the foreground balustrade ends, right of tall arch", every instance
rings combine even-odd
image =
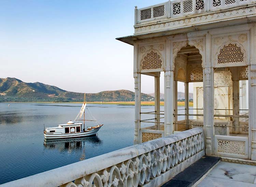
[[[205,154],[214,153],[214,71],[203,69],[203,128],[205,132]]]

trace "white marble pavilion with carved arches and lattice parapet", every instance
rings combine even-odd
[[[134,144],[202,127],[207,155],[256,160],[255,5],[255,0],[171,0],[135,7],[134,34],[117,38],[134,46]],[[155,77],[151,120],[141,120],[149,114],[141,113],[141,74]],[[178,81],[185,85],[185,120],[178,120]],[[192,112],[189,83],[194,83]],[[141,128],[143,122],[153,124]]]

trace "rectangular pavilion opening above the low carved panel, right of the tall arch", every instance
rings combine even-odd
[[[248,66],[215,68],[214,101],[215,135],[248,136]]]

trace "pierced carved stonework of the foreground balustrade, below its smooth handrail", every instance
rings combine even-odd
[[[61,187],[143,186],[203,149],[204,138],[201,130],[197,134],[85,175]]]

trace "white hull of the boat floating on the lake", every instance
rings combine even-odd
[[[100,130],[101,126],[98,128],[92,129],[90,131],[80,132],[80,133],[44,133],[45,139],[61,139],[61,138],[79,138],[79,137],[86,137],[86,136],[93,136],[96,135],[97,132]]]

